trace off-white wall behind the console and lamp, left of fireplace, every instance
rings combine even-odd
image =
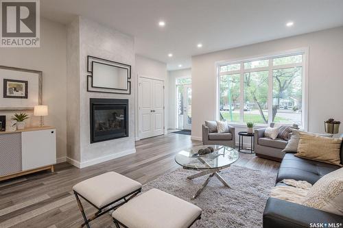
[[[40,18],[39,48],[0,48],[1,65],[43,71],[43,104],[49,106],[44,119],[45,125],[56,127],[58,162],[65,160],[67,151],[66,42],[64,25]],[[30,116],[29,123],[37,125],[37,117]]]

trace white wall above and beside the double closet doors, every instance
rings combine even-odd
[[[145,58],[141,55],[136,55],[136,73],[137,77],[149,77],[152,79],[160,79],[165,81],[165,131],[167,131],[167,123],[168,123],[168,110],[169,110],[169,98],[168,98],[168,83],[169,80],[167,78],[167,64],[164,62],[159,62],[156,60],[152,60],[150,58]],[[136,88],[138,88],[138,80],[136,84]],[[138,106],[139,104],[139,97],[137,91],[136,97],[136,140],[139,139],[139,112]]]

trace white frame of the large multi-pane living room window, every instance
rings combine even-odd
[[[290,55],[297,55],[302,54],[303,60],[301,63],[294,63],[294,64],[284,64],[284,65],[277,65],[273,66],[273,59],[274,58],[281,58],[286,57]],[[302,113],[301,113],[301,122],[302,126],[299,126],[300,129],[304,129],[307,131],[308,129],[308,55],[309,55],[309,48],[303,47],[299,49],[291,49],[287,51],[278,51],[274,53],[266,53],[263,55],[257,55],[252,56],[250,58],[239,58],[239,59],[233,59],[233,60],[223,60],[220,62],[215,63],[215,73],[217,75],[217,107],[216,107],[216,116],[217,119],[220,119],[220,76],[222,75],[233,75],[233,74],[239,74],[240,77],[240,83],[239,83],[239,103],[244,104],[244,73],[249,72],[257,72],[257,71],[268,71],[268,116],[272,116],[272,102],[273,102],[273,71],[275,69],[283,69],[283,68],[293,68],[297,66],[302,67],[302,83],[303,83],[303,91],[302,91]],[[251,61],[257,61],[257,60],[269,60],[268,66],[263,67],[257,67],[257,68],[248,68],[244,69],[244,62],[251,62]],[[221,66],[226,66],[229,64],[240,64],[240,69],[237,71],[226,71],[226,72],[220,72]],[[256,127],[265,127],[269,126],[272,122],[272,118],[268,118],[268,123],[256,123]],[[244,123],[244,105],[240,105],[239,108],[239,122],[228,122],[233,126],[236,127],[244,127],[246,126],[246,123]],[[284,125],[290,125],[287,123],[284,123]]]

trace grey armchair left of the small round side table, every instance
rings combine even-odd
[[[211,132],[209,127],[202,125],[202,143],[204,145],[218,144],[235,148],[235,127],[229,126],[228,133]]]

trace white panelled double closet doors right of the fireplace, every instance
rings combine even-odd
[[[139,137],[164,134],[164,82],[141,77],[139,79]]]

